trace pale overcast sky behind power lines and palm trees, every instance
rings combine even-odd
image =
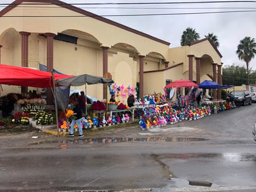
[[[1,0],[0,4],[11,3],[12,0]],[[67,3],[107,3],[107,2],[196,2],[193,0],[63,0]],[[180,39],[187,27],[192,27],[198,32],[200,39],[204,35],[213,33],[219,40],[219,52],[222,54],[222,63],[225,65],[245,66],[237,57],[235,50],[240,40],[244,37],[256,39],[256,2],[226,2],[226,3],[201,3],[189,4],[135,4],[135,5],[74,5],[86,11],[93,12],[107,19],[119,22],[142,31],[159,39],[170,42],[170,47],[180,46]],[[102,7],[102,8],[99,8]],[[104,7],[104,8],[103,8]],[[111,9],[106,8],[111,7]],[[127,7],[135,7],[127,9]],[[1,7],[2,8],[2,7]],[[138,9],[144,8],[144,9]],[[146,9],[145,9],[146,8]],[[152,9],[154,8],[154,9]],[[156,9],[158,8],[158,9]],[[167,9],[168,8],[168,9]],[[253,12],[226,12],[211,14],[180,14],[192,12],[224,12],[224,11],[253,11]],[[255,12],[254,12],[255,11]],[[118,16],[129,14],[169,14],[162,16]],[[178,14],[178,15],[170,15]],[[111,16],[110,16],[111,15]],[[250,62],[250,67],[256,70],[256,58]]]

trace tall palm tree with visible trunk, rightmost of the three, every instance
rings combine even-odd
[[[237,55],[240,60],[244,60],[247,68],[247,83],[249,85],[249,63],[256,54],[256,42],[254,38],[245,37],[240,40],[239,45],[237,45]]]

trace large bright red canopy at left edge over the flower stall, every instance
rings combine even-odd
[[[0,72],[0,84],[35,88],[53,87],[52,73],[46,71],[21,66],[0,65]],[[54,73],[55,80],[69,77],[73,76]]]

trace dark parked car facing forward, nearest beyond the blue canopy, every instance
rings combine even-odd
[[[234,96],[235,105],[237,106],[252,104],[252,96],[249,91],[233,91],[231,94]]]

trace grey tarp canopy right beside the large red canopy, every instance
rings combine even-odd
[[[109,78],[88,74],[57,80],[57,84],[62,86],[81,86],[85,84],[93,85],[98,83],[114,83],[114,81]]]

